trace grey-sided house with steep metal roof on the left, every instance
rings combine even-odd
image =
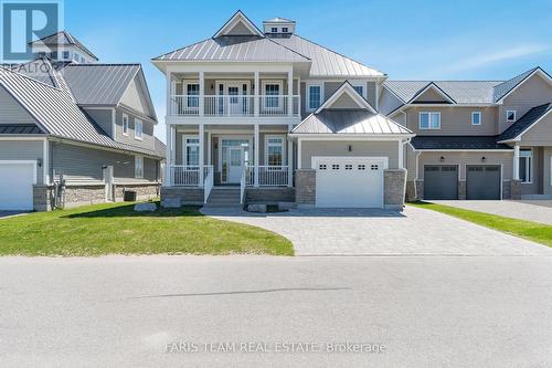
[[[0,210],[159,193],[164,145],[139,64],[100,64],[63,31],[0,67]]]

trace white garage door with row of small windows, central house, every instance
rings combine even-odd
[[[386,158],[315,157],[316,207],[383,208]]]

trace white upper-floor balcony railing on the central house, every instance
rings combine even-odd
[[[300,96],[172,95],[172,116],[299,116]]]

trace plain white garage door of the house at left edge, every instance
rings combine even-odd
[[[33,164],[0,161],[0,210],[33,209]]]

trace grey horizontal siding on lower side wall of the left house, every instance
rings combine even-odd
[[[52,169],[71,182],[102,182],[103,166],[113,166],[115,181],[155,181],[155,160],[144,159],[144,179],[135,178],[135,156],[60,143],[52,144]]]

